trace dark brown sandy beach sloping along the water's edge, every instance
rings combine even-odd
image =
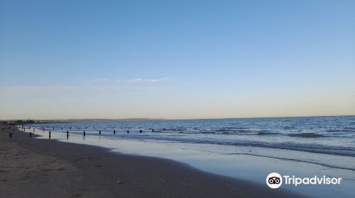
[[[0,131],[0,194],[1,197],[304,197],[205,173],[167,159],[34,139],[16,129]]]

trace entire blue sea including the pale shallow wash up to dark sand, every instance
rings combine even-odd
[[[285,189],[313,197],[355,194],[355,116],[95,121],[33,127],[41,138],[48,138],[51,131],[52,138],[60,141],[170,158],[262,184],[271,172],[342,177],[342,185]]]

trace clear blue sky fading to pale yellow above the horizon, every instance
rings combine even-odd
[[[355,115],[355,1],[0,0],[0,120]]]

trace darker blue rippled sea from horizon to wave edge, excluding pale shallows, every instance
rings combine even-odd
[[[101,130],[102,136],[113,138],[256,146],[355,156],[355,116],[72,122],[37,127],[54,132],[69,130],[73,134],[86,131],[93,136],[99,135]]]

